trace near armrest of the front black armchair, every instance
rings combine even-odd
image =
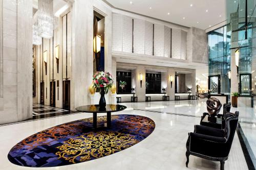
[[[190,136],[191,141],[195,140],[206,140],[209,142],[215,142],[215,143],[225,143],[226,139],[224,137],[216,137],[216,136],[209,136],[209,135],[203,135],[198,133],[190,132],[188,134]]]

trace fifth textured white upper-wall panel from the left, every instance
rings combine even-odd
[[[154,56],[164,56],[164,25],[155,24],[154,28]]]

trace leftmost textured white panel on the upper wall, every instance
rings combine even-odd
[[[123,30],[122,30],[123,16],[113,13],[112,15],[112,50],[122,51]]]

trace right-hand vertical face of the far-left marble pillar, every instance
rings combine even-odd
[[[32,117],[32,0],[17,0],[17,118]]]

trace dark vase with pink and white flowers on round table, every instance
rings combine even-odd
[[[112,87],[114,79],[109,72],[97,71],[93,76],[93,87],[100,89],[100,100],[99,105],[102,107],[106,106],[105,93],[108,93]]]

